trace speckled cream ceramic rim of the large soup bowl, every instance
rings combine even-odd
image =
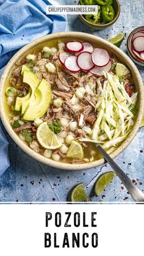
[[[53,166],[60,169],[65,170],[81,170],[81,169],[89,169],[93,167],[100,166],[101,164],[104,164],[104,159],[99,159],[97,161],[94,161],[92,163],[85,163],[85,164],[65,164],[65,163],[59,163],[52,159],[45,158],[44,156],[39,155],[38,153],[35,153],[31,148],[29,148],[27,145],[21,141],[21,139],[15,134],[12,127],[10,126],[10,123],[7,119],[7,115],[5,114],[4,109],[4,90],[5,90],[5,81],[7,77],[9,77],[10,72],[12,71],[13,65],[15,65],[15,62],[21,57],[23,57],[24,54],[27,53],[27,51],[31,51],[35,46],[39,45],[43,42],[48,42],[48,40],[52,40],[55,38],[66,38],[67,40],[71,40],[71,38],[74,38],[79,41],[85,41],[85,42],[91,42],[96,46],[99,46],[101,48],[107,49],[107,51],[115,54],[120,62],[123,64],[126,64],[128,68],[132,72],[132,76],[134,79],[135,84],[135,90],[139,92],[138,102],[137,106],[139,108],[137,117],[135,119],[134,127],[132,128],[131,133],[129,134],[128,138],[123,142],[123,144],[118,147],[115,152],[113,152],[110,156],[112,158],[115,158],[116,156],[120,155],[123,150],[128,147],[132,139],[134,139],[135,135],[137,134],[137,130],[139,129],[140,122],[142,120],[143,115],[143,99],[144,99],[144,92],[143,92],[143,82],[142,78],[139,74],[139,71],[135,67],[132,60],[125,54],[123,51],[121,51],[117,46],[112,45],[112,43],[107,42],[106,40],[103,40],[102,38],[96,37],[95,35],[80,33],[80,32],[62,32],[52,35],[47,35],[45,37],[38,38],[32,43],[29,43],[29,45],[24,46],[18,53],[15,54],[15,56],[12,57],[12,59],[9,61],[7,66],[5,67],[4,73],[1,77],[1,86],[0,86],[0,114],[1,114],[1,120],[4,123],[5,129],[12,137],[13,141],[22,149],[24,152],[26,152],[29,156],[32,158],[35,158],[37,161],[40,161],[41,163],[47,164],[48,166]]]

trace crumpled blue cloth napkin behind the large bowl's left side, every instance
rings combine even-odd
[[[46,15],[48,0],[0,0],[0,77],[21,47],[38,37],[65,31],[64,15]],[[9,167],[8,142],[0,127],[0,175]]]

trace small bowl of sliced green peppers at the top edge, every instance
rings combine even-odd
[[[79,15],[81,20],[93,29],[106,29],[120,15],[120,4],[118,0],[80,0],[79,5],[98,5],[98,14]]]

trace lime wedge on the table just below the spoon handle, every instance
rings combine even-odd
[[[115,172],[106,172],[98,177],[95,182],[95,194],[97,197],[104,191],[104,189],[109,185],[110,181],[116,176]]]

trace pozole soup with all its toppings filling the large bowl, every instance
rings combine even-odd
[[[35,152],[63,163],[90,163],[102,156],[88,140],[112,153],[126,139],[133,125],[137,93],[128,68],[124,75],[117,75],[118,60],[112,53],[107,53],[109,60],[100,67],[95,63],[102,61],[96,59],[99,46],[76,38],[70,43],[65,38],[41,43],[16,62],[5,84],[5,111],[15,133]],[[107,61],[103,51],[101,58],[105,54]],[[86,58],[83,62],[80,54]],[[29,82],[34,78],[37,86]],[[48,87],[45,97],[41,81],[43,88]],[[27,101],[21,101],[24,97]],[[34,119],[31,106],[35,107]],[[43,123],[48,126],[46,138]]]

